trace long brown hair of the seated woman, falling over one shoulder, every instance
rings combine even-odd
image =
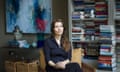
[[[63,23],[62,19],[53,20],[53,22],[51,24],[51,33],[52,33],[52,36],[55,35],[54,27],[55,27],[55,23],[56,22],[62,22],[62,24],[63,24],[64,31],[63,31],[63,34],[62,34],[61,43],[62,43],[62,46],[63,46],[64,50],[65,51],[69,51],[70,48],[71,48],[71,45],[70,45],[70,42],[69,42],[68,38],[66,37],[66,30],[65,30],[65,26],[64,26],[64,23]]]

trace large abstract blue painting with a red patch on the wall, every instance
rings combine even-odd
[[[51,0],[6,0],[6,32],[50,33]]]

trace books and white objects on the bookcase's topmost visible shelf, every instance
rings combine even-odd
[[[79,4],[74,6],[74,11],[72,18],[81,19],[81,13],[84,18],[108,18],[107,4],[105,2],[96,2],[96,4]]]

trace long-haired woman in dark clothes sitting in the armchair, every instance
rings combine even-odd
[[[61,19],[51,24],[51,36],[45,40],[44,54],[47,72],[82,72],[78,63],[71,63],[71,46],[65,37]]]

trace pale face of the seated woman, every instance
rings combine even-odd
[[[55,25],[54,25],[55,35],[61,36],[63,34],[63,30],[64,30],[63,23],[62,22],[56,22]]]

